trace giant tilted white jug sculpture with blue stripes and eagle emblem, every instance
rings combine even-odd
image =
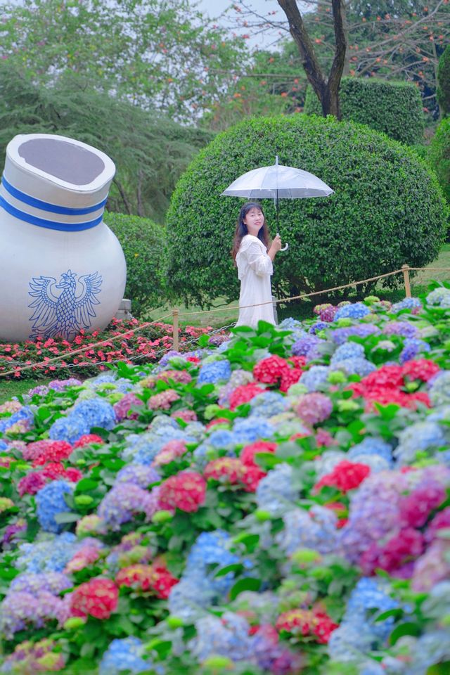
[[[115,166],[96,148],[15,136],[0,186],[0,340],[104,328],[122,300],[125,259],[103,223]]]

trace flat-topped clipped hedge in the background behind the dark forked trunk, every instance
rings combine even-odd
[[[342,120],[367,124],[401,143],[412,145],[422,140],[422,99],[414,84],[386,82],[374,77],[342,77],[339,95]],[[322,114],[319,99],[311,86],[307,88],[304,113]]]

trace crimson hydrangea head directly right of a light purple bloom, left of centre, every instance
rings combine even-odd
[[[195,471],[184,471],[170,476],[160,486],[160,508],[172,510],[179,508],[186,513],[194,513],[205,502],[206,482]]]

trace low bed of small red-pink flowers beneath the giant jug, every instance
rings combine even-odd
[[[58,378],[77,375],[89,377],[96,375],[99,370],[104,371],[108,364],[118,361],[131,363],[156,362],[161,354],[172,348],[173,329],[168,323],[153,323],[136,333],[127,333],[136,330],[143,324],[137,319],[123,321],[113,319],[108,328],[103,331],[94,330],[86,333],[84,330],[77,335],[73,342],[64,338],[39,338],[26,342],[10,344],[0,343],[0,373],[13,371],[10,378],[30,377]],[[181,352],[192,348],[193,342],[200,335],[205,335],[212,330],[210,327],[198,328],[184,326],[179,329],[179,345]],[[120,339],[117,335],[124,335]],[[220,335],[214,336],[213,340],[220,340]],[[105,342],[97,345],[98,342]],[[78,349],[84,349],[82,353],[71,354]],[[56,356],[62,357],[57,362],[52,362]],[[39,364],[39,365],[38,365]],[[26,371],[20,371],[23,366],[32,366]]]

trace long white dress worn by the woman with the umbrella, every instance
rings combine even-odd
[[[262,241],[246,234],[240,243],[236,264],[240,280],[240,309],[236,326],[256,328],[260,320],[275,324],[270,284],[274,268]],[[259,302],[266,304],[245,309],[245,305]]]

